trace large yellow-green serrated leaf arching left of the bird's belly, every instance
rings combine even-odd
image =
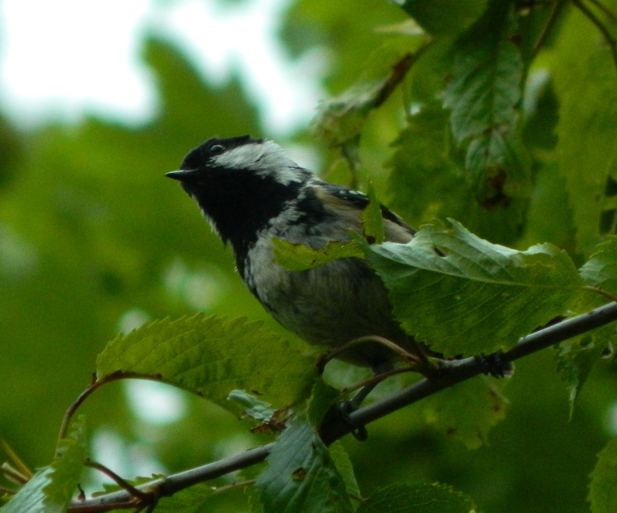
[[[260,322],[203,313],[144,324],[118,335],[97,359],[97,377],[157,379],[241,412],[231,390],[257,391],[281,406],[306,398],[317,357],[295,339],[284,340]]]

